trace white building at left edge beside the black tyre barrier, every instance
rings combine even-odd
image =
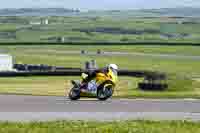
[[[11,55],[0,54],[0,72],[13,71],[13,59]]]

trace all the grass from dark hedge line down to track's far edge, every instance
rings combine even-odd
[[[144,92],[138,89],[137,83],[143,79],[120,77],[115,97],[148,97],[148,98],[200,98],[200,62],[198,60],[162,59],[152,57],[101,56],[68,54],[69,51],[127,51],[143,53],[168,53],[198,55],[200,47],[195,46],[1,46],[2,51],[13,55],[16,63],[48,64],[64,67],[83,67],[84,62],[96,59],[99,67],[116,63],[120,69],[152,70],[165,72],[168,75],[169,89],[164,92]],[[191,51],[188,51],[191,49]],[[185,54],[186,53],[186,54]],[[195,79],[194,79],[195,77]],[[80,77],[24,77],[0,78],[0,92],[31,95],[65,95],[71,88],[70,79]]]

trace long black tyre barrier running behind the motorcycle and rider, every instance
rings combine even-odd
[[[58,66],[47,65],[28,65],[28,64],[15,64],[15,72],[0,72],[0,77],[5,76],[80,76],[82,72],[88,73],[95,69],[81,69],[81,68],[66,68]],[[152,72],[152,71],[131,71],[131,70],[119,70],[119,76],[141,77],[148,81],[151,80],[166,80],[167,76],[164,73]]]

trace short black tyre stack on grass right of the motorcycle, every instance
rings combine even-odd
[[[138,88],[145,91],[164,91],[168,85],[159,83],[138,83]]]

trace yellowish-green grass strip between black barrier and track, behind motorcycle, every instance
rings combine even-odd
[[[70,80],[79,77],[0,78],[1,94],[66,96],[72,87]],[[166,91],[142,91],[137,83],[142,79],[119,77],[116,98],[200,98],[200,82],[171,76]]]

